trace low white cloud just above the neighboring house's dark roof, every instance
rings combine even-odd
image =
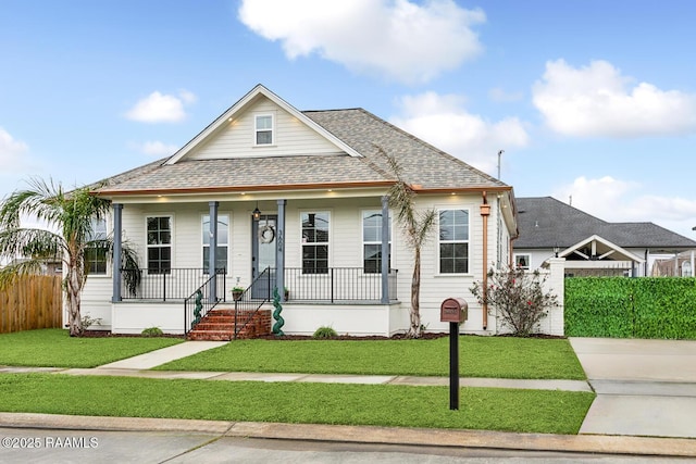
[[[573,184],[555,190],[552,197],[610,223],[650,222],[688,238],[696,226],[696,200],[641,193],[639,183],[610,176],[588,179],[577,177]]]

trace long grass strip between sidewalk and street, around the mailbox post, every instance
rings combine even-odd
[[[589,392],[462,388],[460,410],[450,411],[448,387],[0,376],[4,412],[540,434],[577,434],[593,399]]]

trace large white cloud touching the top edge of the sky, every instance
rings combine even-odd
[[[452,0],[244,0],[239,20],[288,59],[316,52],[349,70],[422,83],[482,51],[480,10]]]

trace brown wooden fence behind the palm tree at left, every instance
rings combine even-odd
[[[0,334],[61,327],[60,276],[27,275],[0,290]]]

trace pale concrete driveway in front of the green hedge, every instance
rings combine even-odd
[[[581,434],[696,438],[696,341],[570,342],[597,393]]]

